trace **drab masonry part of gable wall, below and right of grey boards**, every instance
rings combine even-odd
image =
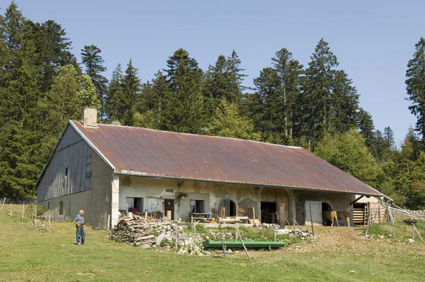
[[[108,214],[111,214],[111,182],[113,171],[96,153],[92,158],[91,189],[73,194],[46,199],[39,202],[53,219],[73,219],[80,209],[84,209],[86,223],[106,228]],[[63,202],[63,215],[59,215],[59,203]],[[48,206],[50,209],[48,210]]]

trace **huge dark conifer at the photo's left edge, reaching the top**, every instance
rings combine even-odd
[[[7,58],[0,70],[0,187],[1,194],[12,199],[34,196],[44,161],[38,107],[41,71],[30,23],[14,1],[0,22]]]

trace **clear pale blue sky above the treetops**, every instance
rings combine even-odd
[[[0,0],[0,12],[10,1]],[[102,50],[109,78],[130,58],[140,78],[165,68],[176,49],[189,51],[204,70],[217,56],[237,51],[245,85],[287,48],[304,66],[320,38],[352,78],[360,105],[379,130],[402,140],[416,118],[404,84],[414,44],[425,36],[425,1],[22,1],[33,21],[53,19],[66,29],[78,55],[84,45]]]

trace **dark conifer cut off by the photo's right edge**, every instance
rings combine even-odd
[[[416,130],[425,145],[425,38],[415,44],[416,51],[407,64],[406,90],[412,105],[409,110],[417,118]]]

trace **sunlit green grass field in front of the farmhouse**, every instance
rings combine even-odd
[[[70,222],[51,231],[27,228],[20,207],[0,211],[0,281],[424,281],[425,244],[362,239],[362,229],[323,227],[315,241],[278,251],[243,252],[230,258],[193,257],[143,250],[106,239],[87,228],[87,245],[76,246]],[[370,231],[378,235],[379,229]],[[400,226],[403,229],[404,226]],[[404,236],[409,236],[406,226]],[[369,232],[370,233],[370,232]],[[398,234],[398,236],[403,236]],[[350,271],[355,271],[350,273]]]

